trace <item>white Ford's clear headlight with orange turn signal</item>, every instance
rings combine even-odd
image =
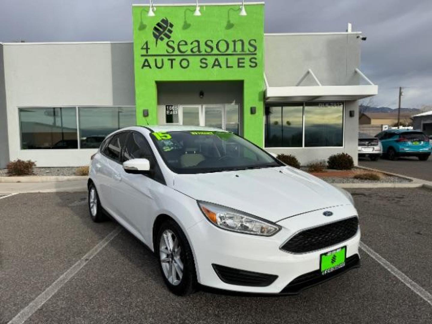
[[[232,232],[272,236],[280,231],[279,225],[228,207],[198,201],[204,216],[215,226]]]

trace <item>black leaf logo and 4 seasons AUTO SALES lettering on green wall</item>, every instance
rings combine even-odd
[[[165,41],[165,48],[156,53],[152,45],[145,40],[141,46],[143,62],[141,69],[188,69],[197,66],[200,69],[244,69],[258,67],[257,39],[193,39],[175,40],[174,24],[168,18],[162,18],[153,27],[152,35],[156,40],[155,48]]]

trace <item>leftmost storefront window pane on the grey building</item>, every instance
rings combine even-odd
[[[77,149],[76,108],[19,108],[22,149]]]

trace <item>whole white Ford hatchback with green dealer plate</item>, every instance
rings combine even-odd
[[[177,295],[294,294],[359,266],[349,193],[209,127],[128,127],[92,158],[89,211],[155,252]]]

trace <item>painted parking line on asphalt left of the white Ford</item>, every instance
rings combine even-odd
[[[121,232],[121,227],[118,226],[109,233],[102,241],[100,241],[94,248],[92,248],[86,255],[84,255],[81,259],[79,259],[76,264],[69,268],[65,273],[63,273],[54,283],[45,289],[38,297],[36,297],[29,305],[23,308],[12,320],[8,322],[8,324],[22,324],[24,323],[30,316],[32,316],[35,311],[41,308],[42,305],[48,299],[50,299],[61,287],[64,286],[73,276],[81,270],[87,262],[92,260],[96,254],[98,254],[105,246],[112,241],[118,233]]]

